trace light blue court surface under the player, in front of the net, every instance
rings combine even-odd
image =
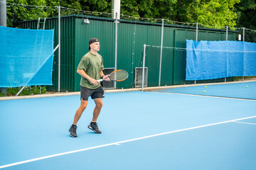
[[[0,169],[256,169],[256,101],[130,91],[106,93],[68,128],[80,96],[0,101]]]

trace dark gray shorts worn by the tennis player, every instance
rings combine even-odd
[[[80,86],[80,98],[82,98],[83,101],[88,101],[89,96],[91,96],[92,99],[104,98],[104,89],[102,86],[97,89],[88,89],[84,86]]]

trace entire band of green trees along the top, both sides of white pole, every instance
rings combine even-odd
[[[16,4],[35,6],[63,6],[84,11],[112,13],[114,0],[7,0]],[[121,0],[121,13],[140,18],[165,18],[171,21],[201,23],[206,26],[234,27],[238,24],[255,24],[255,1],[253,0]],[[8,26],[22,20],[58,16],[53,8],[39,10],[26,6],[7,8]],[[63,15],[82,14],[79,11],[62,9]],[[237,14],[238,13],[238,14]],[[251,16],[251,20],[247,18]],[[238,19],[237,19],[238,18]],[[255,26],[255,25],[254,25]],[[253,28],[255,29],[255,27]]]

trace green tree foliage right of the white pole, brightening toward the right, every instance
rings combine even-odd
[[[122,0],[121,11],[127,16],[165,18],[171,21],[203,25],[235,26],[234,5],[240,0]]]

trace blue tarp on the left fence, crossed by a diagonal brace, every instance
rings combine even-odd
[[[53,30],[0,26],[0,87],[52,85]]]

